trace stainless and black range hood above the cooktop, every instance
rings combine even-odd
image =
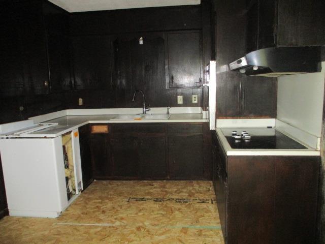
[[[320,46],[270,47],[252,51],[229,66],[246,75],[267,77],[320,72],[320,53]]]

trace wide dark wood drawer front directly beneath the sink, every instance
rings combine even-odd
[[[113,133],[151,134],[165,133],[165,125],[157,124],[115,124],[112,125]]]

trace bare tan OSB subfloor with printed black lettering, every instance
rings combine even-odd
[[[223,243],[211,181],[94,181],[58,219],[5,217],[0,243]]]

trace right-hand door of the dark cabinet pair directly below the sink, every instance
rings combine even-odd
[[[165,136],[141,136],[139,139],[141,178],[167,178]]]

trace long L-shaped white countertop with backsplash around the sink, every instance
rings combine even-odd
[[[53,113],[31,117],[14,123],[0,125],[0,138],[53,138],[77,129],[89,123],[195,123],[208,122],[201,107],[173,107],[170,108],[169,119],[135,119],[117,120],[118,115],[136,115],[141,113],[142,108],[113,108],[113,109],[68,109]],[[166,108],[151,108],[148,114],[166,115]],[[50,124],[49,128],[31,131],[28,133],[17,133],[26,128]],[[16,132],[16,133],[15,133]]]

